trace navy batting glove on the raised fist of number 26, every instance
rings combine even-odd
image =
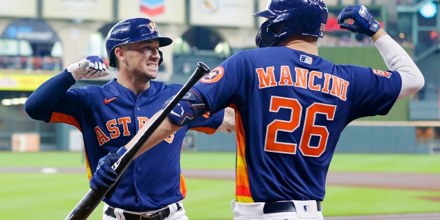
[[[353,19],[353,24],[344,23],[346,19]],[[353,5],[345,7],[338,16],[338,24],[341,29],[354,33],[373,36],[379,29],[379,22],[375,21],[364,5]]]

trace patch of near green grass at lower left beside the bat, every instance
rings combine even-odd
[[[87,193],[87,175],[0,173],[1,219],[65,219]],[[102,204],[89,219],[102,219]]]

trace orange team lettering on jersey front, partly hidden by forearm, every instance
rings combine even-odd
[[[148,118],[146,117],[137,117],[137,122],[139,124],[139,130],[142,129],[142,126],[148,122]],[[130,117],[123,117],[123,118],[115,118],[112,120],[107,121],[105,123],[105,126],[96,126],[95,132],[96,132],[96,138],[98,139],[98,143],[100,146],[108,142],[109,140],[115,139],[123,136],[129,136],[131,135],[131,132],[129,130],[129,126],[131,124],[131,118]],[[139,131],[137,130],[137,131]],[[164,141],[171,143],[174,140],[174,134],[167,137]]]

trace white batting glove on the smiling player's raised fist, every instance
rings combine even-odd
[[[109,69],[99,56],[87,56],[81,61],[72,63],[67,67],[67,72],[78,81],[81,78],[100,78],[109,75]]]

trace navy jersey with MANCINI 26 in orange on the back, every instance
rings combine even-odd
[[[237,201],[322,201],[342,130],[357,118],[388,113],[401,78],[265,47],[234,54],[195,88],[211,112],[237,111]]]

